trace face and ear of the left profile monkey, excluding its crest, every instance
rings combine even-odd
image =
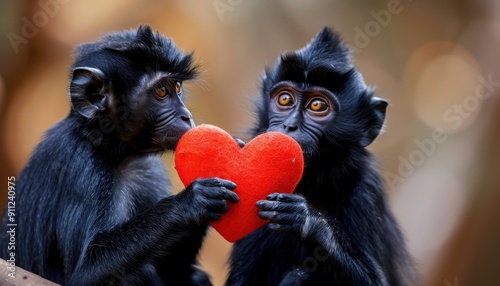
[[[182,102],[182,80],[176,78],[149,72],[126,82],[109,80],[97,68],[78,67],[71,81],[73,109],[89,119],[89,128],[138,152],[174,150],[180,137],[194,127]]]

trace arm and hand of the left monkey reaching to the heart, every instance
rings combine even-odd
[[[122,281],[141,271],[138,266],[148,262],[154,265],[179,249],[197,252],[208,222],[227,211],[226,200],[238,201],[230,191],[235,187],[221,179],[196,180],[178,195],[160,200],[124,224],[98,232],[87,240],[67,284]]]

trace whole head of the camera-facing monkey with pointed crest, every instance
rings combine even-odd
[[[262,82],[256,133],[290,135],[311,159],[365,147],[382,128],[387,102],[373,97],[349,49],[329,28],[308,45],[278,57]]]

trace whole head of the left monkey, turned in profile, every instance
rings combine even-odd
[[[88,137],[106,137],[103,144],[116,149],[125,144],[138,152],[173,150],[194,126],[182,102],[182,82],[196,75],[192,54],[184,55],[149,26],[110,33],[78,47],[72,109],[85,118]]]

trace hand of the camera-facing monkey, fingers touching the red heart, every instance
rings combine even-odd
[[[268,219],[268,228],[297,234],[303,240],[314,240],[316,233],[330,232],[327,221],[298,194],[274,193],[257,202],[259,217]],[[328,228],[325,229],[325,228]]]

